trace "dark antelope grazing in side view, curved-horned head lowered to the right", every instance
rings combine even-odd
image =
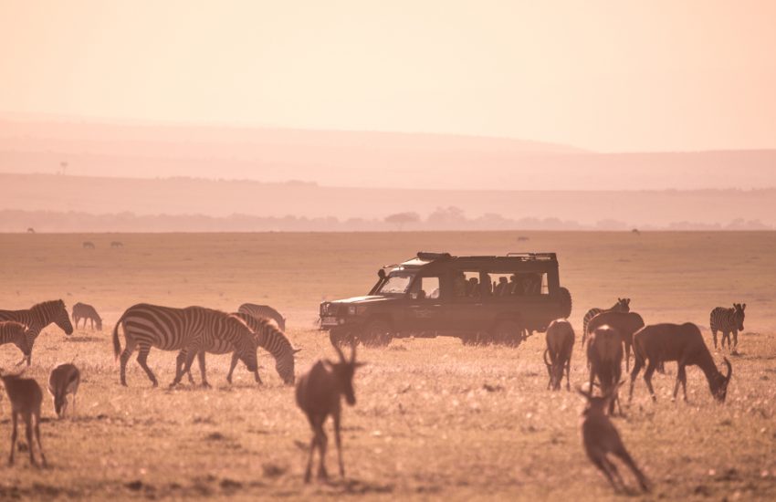
[[[682,384],[682,391],[685,394],[687,402],[687,372],[686,366],[695,365],[699,367],[706,375],[708,389],[711,395],[719,403],[725,402],[728,394],[728,384],[733,375],[733,367],[728,358],[723,358],[725,365],[728,366],[728,374],[722,374],[711,353],[703,341],[703,335],[700,329],[691,323],[685,324],[653,324],[640,329],[634,335],[634,370],[631,371],[631,388],[628,392],[628,403],[634,396],[634,382],[639,371],[644,368],[645,361],[649,361],[644,372],[644,381],[652,400],[657,401],[655,389],[652,388],[652,374],[658,362],[676,361],[678,371],[676,371],[676,385],[674,386],[674,399],[679,392],[679,383]]]

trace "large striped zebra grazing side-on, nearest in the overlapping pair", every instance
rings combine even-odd
[[[126,346],[121,351],[119,326],[124,329]],[[158,305],[138,304],[127,309],[113,329],[113,354],[121,358],[121,385],[127,385],[127,361],[138,348],[138,364],[148,375],[154,387],[159,385],[148,367],[152,347],[160,350],[178,350],[175,361],[175,379],[170,387],[181,382],[192,366],[194,357],[211,344],[211,339],[226,340],[234,347],[237,359],[245,362],[248,371],[257,375],[256,340],[246,323],[220,310],[204,307],[173,309]],[[204,364],[201,366],[202,383],[207,386]],[[257,382],[259,382],[257,380]]]

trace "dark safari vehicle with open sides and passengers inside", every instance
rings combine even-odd
[[[321,329],[372,346],[409,336],[517,346],[572,312],[555,253],[421,252],[381,268],[378,277],[367,296],[322,302]]]

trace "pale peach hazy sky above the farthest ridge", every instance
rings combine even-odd
[[[776,148],[776,2],[0,0],[0,112]]]

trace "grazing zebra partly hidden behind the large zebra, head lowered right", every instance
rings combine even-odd
[[[248,328],[254,332],[257,346],[267,350],[275,358],[275,370],[286,385],[293,385],[294,377],[294,354],[301,349],[294,349],[291,342],[286,338],[282,331],[276,329],[268,319],[256,319],[247,314],[236,312],[232,314],[246,323]],[[209,345],[197,354],[200,368],[204,365],[204,352],[211,354],[226,354],[232,352],[232,363],[229,367],[229,373],[226,375],[226,382],[232,383],[232,373],[237,365],[237,356],[235,347],[225,340],[211,338]],[[194,382],[191,371],[188,373],[189,382]],[[257,382],[258,380],[257,375]]]

